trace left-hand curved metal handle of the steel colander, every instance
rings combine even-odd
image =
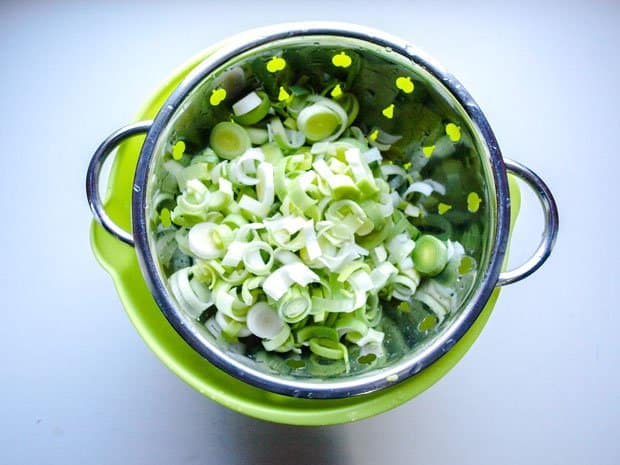
[[[117,225],[105,211],[99,196],[99,175],[101,174],[103,163],[121,142],[129,137],[148,132],[152,124],[152,121],[140,121],[120,128],[110,134],[93,154],[86,173],[86,197],[88,198],[88,204],[93,212],[93,216],[106,231],[132,247],[134,245],[132,235]]]

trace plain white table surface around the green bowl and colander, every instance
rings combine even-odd
[[[171,70],[301,19],[385,29],[435,56],[561,212],[549,262],[504,290],[445,378],[324,428],[247,418],[169,371],[93,258],[83,188],[95,147]],[[619,23],[615,1],[0,3],[0,463],[620,463]],[[513,264],[541,224],[525,195]]]

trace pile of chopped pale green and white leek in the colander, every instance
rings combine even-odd
[[[445,188],[384,161],[358,110],[348,93],[256,91],[203,150],[171,144],[157,250],[178,305],[215,337],[348,371],[351,348],[383,353],[382,301],[418,299],[438,320],[452,308],[434,277],[464,250],[410,221],[425,213],[414,199]]]

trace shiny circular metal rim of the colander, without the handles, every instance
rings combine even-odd
[[[304,378],[281,378],[255,370],[195,331],[187,317],[176,308],[161,279],[158,266],[151,255],[146,215],[147,182],[155,148],[160,135],[185,98],[209,73],[237,55],[270,42],[299,36],[344,37],[389,47],[438,79],[462,106],[488,151],[497,215],[495,231],[491,231],[492,247],[488,266],[466,307],[449,327],[415,356],[407,357],[392,366],[355,377],[320,382],[311,382]],[[227,41],[221,49],[199,64],[166,100],[146,135],[136,167],[131,206],[133,237],[140,269],[158,307],[181,337],[213,365],[237,379],[279,394],[323,399],[349,397],[389,387],[418,373],[448,352],[477,319],[497,284],[506,253],[510,223],[510,196],[501,151],[484,114],[460,82],[422,51],[399,38],[362,26],[334,22],[285,23],[248,31]]]

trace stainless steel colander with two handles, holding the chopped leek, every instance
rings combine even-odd
[[[204,147],[210,128],[230,113],[236,97],[259,86],[273,93],[300,76],[310,83],[330,79],[346,83],[360,101],[357,126],[366,133],[402,136],[392,141],[390,157],[394,163],[417,163],[425,175],[439,180],[458,173],[461,188],[448,194],[450,211],[429,215],[419,226],[453,240],[469,241],[477,263],[475,272],[455,286],[458,305],[437,325],[423,324],[429,309],[419,302],[412,302],[406,312],[386,303],[383,311],[392,323],[386,330],[386,356],[380,363],[356,359],[349,373],[322,378],[311,376],[304,369],[307,361],[299,357],[283,356],[281,363],[261,362],[250,347],[233,347],[216,340],[203,322],[181,311],[155,253],[152,221],[153,195],[161,182],[162,163],[171,142],[182,139],[190,147]],[[220,98],[221,89],[225,98]],[[458,125],[461,142],[456,147],[444,144],[445,150],[426,160],[421,155],[424,141],[432,139],[440,146],[440,139],[446,136],[433,133],[432,127],[446,121]],[[146,138],[135,173],[133,231],[129,233],[106,214],[98,194],[98,178],[114,148],[137,134],[146,134]],[[501,272],[510,219],[507,172],[532,187],[541,201],[546,224],[532,258],[515,270]],[[475,212],[467,208],[468,192],[480,193],[481,207]],[[228,41],[187,76],[153,121],[126,126],[101,144],[89,166],[87,195],[102,226],[135,247],[158,306],[191,347],[243,381],[307,398],[341,398],[376,391],[428,367],[465,334],[496,286],[523,279],[542,265],[558,231],[558,212],[547,186],[531,170],[502,157],[482,111],[452,75],[400,39],[336,23],[285,24]]]

